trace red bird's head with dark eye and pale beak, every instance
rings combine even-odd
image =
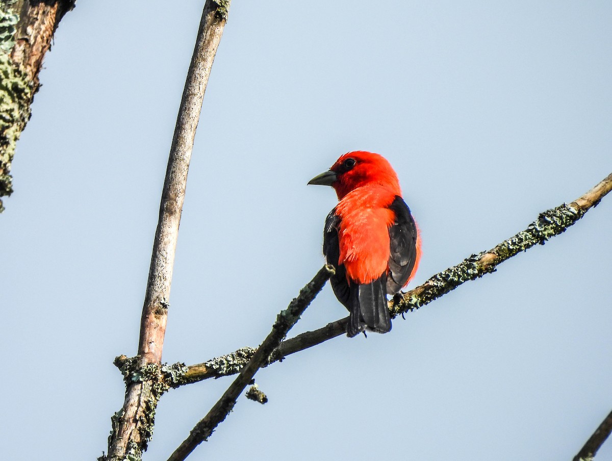
[[[372,152],[348,152],[332,165],[329,171],[315,176],[308,184],[334,187],[338,200],[357,187],[379,185],[401,195],[400,183],[394,169],[383,156]]]

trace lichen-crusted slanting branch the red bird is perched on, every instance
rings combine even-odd
[[[501,242],[493,249],[472,255],[457,266],[434,275],[423,285],[402,293],[401,296],[395,296],[392,301],[389,301],[389,310],[392,316],[397,317],[402,313],[419,309],[419,307],[454,290],[462,283],[494,272],[499,263],[506,261],[517,253],[534,245],[543,244],[551,237],[563,233],[590,208],[596,206],[610,190],[612,190],[612,174],[572,203],[562,204],[557,208],[541,213],[538,219],[532,222],[526,230]],[[607,230],[605,235],[607,238]],[[343,318],[329,323],[323,328],[308,331],[283,341],[272,352],[269,363],[343,334],[346,331],[347,321],[348,318]],[[178,379],[172,384],[172,387],[195,383],[208,378],[233,375],[239,372],[241,367],[250,360],[252,354],[252,348],[242,348],[202,364],[190,365],[184,375],[177,377]]]

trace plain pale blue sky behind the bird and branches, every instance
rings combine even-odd
[[[0,459],[106,451],[136,353],[168,150],[203,0],[79,1],[56,33],[0,216]],[[164,361],[256,345],[323,264],[352,150],[397,170],[415,284],[612,171],[612,3],[239,1],[212,69]],[[570,460],[612,408],[612,197],[394,321],[261,370],[191,460]],[[291,333],[345,317],[329,287]],[[165,395],[164,460],[231,378]],[[612,441],[600,460],[612,459]]]

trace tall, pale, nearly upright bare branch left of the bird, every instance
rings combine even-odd
[[[161,361],[174,252],[193,139],[229,6],[230,0],[207,0],[204,4],[166,169],[141,317],[138,356],[130,361],[120,360],[118,364],[126,377],[127,389],[122,409],[111,419],[113,429],[108,440],[108,454],[102,458],[107,461],[141,459],[151,440],[157,402],[167,389],[165,381],[171,381],[165,373],[168,367],[164,370]]]

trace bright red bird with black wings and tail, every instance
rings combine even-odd
[[[348,152],[308,184],[332,186],[338,195],[325,222],[323,254],[336,268],[334,293],[350,312],[346,334],[390,331],[387,294],[412,279],[420,259],[419,231],[397,174],[378,154]]]

